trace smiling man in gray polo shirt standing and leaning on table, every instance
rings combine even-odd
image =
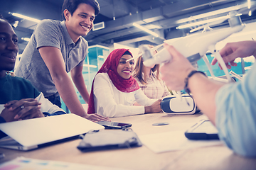
[[[15,71],[16,76],[31,81],[53,103],[60,106],[61,96],[71,113],[92,121],[108,119],[85,112],[68,72],[82,98],[88,103],[89,94],[82,77],[88,44],[82,36],[92,29],[99,10],[97,0],[65,0],[65,21],[43,20],[38,23]]]

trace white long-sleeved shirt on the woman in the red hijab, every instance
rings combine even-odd
[[[141,89],[130,93],[119,91],[107,73],[96,75],[93,94],[96,113],[107,117],[144,114],[144,106],[156,101],[147,98]],[[135,101],[142,106],[133,106]]]

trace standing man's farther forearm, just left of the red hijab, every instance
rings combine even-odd
[[[85,100],[86,103],[89,103],[89,93],[85,86],[85,80],[82,77],[82,74],[73,77],[73,82],[78,89],[79,93],[81,94],[82,98]]]

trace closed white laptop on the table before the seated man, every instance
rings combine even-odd
[[[104,126],[73,113],[0,123],[0,130],[9,136],[0,140],[0,147],[31,150],[70,138],[78,138],[79,135],[90,130],[103,129]]]

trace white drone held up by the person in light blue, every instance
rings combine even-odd
[[[211,69],[210,63],[206,57],[206,52],[208,52],[209,50],[218,60],[220,66],[223,68],[223,71],[225,72],[228,81],[233,81],[230,77],[227,67],[225,66],[225,63],[223,62],[222,57],[220,56],[220,53],[216,50],[215,45],[220,40],[224,40],[233,33],[238,33],[243,28],[245,28],[245,24],[241,22],[240,14],[238,12],[239,11],[231,11],[228,13],[228,16],[225,17],[225,20],[228,19],[228,23],[230,25],[230,27],[228,28],[223,28],[220,30],[211,29],[210,31],[204,31],[203,33],[199,33],[196,35],[188,35],[183,38],[178,38],[178,40],[175,41],[165,40],[164,43],[173,45],[176,50],[181,52],[181,54],[186,57],[194,66],[197,65],[198,60],[203,57],[203,60],[210,71],[211,77],[215,80],[219,80],[217,77],[214,76],[213,70]],[[245,13],[244,9],[242,9],[242,13]],[[224,20],[222,19],[222,21],[219,22],[221,23],[223,21]],[[208,24],[208,26],[209,25],[210,24]],[[163,45],[164,44],[161,44],[151,49],[147,45],[142,45],[140,47],[140,49],[142,50],[142,57],[145,66],[149,67],[154,64],[171,62],[171,55],[165,48],[159,50],[159,52],[157,52],[155,55],[153,54],[155,50],[159,49]],[[181,95],[179,94],[178,96]]]

